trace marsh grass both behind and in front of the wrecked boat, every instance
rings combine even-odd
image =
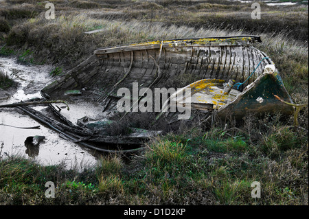
[[[55,20],[46,20],[44,4],[34,0],[23,9],[36,13],[4,16],[3,54],[25,57],[31,51],[36,62],[58,66],[51,73],[57,74],[98,47],[261,35],[263,42],[255,47],[275,62],[293,101],[308,103],[307,5],[271,8],[261,3],[258,21],[251,19],[250,4],[224,0],[52,2],[58,5]],[[12,3],[19,8],[21,1]],[[98,29],[103,31],[84,34]],[[0,153],[0,204],[308,205],[308,106],[298,119],[303,128],[279,114],[248,115],[238,124],[231,119],[213,126],[198,122],[194,128],[184,123],[152,139],[130,161],[121,155],[102,157],[81,172]],[[56,184],[56,198],[45,198],[47,181]],[[253,181],[261,183],[261,198],[251,198]]]

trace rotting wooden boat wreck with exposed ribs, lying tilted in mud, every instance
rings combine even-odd
[[[82,96],[91,97],[93,102],[100,104],[102,111],[98,113],[109,120],[119,113],[117,89],[131,90],[133,82],[138,82],[139,89],[176,89],[179,78],[191,77],[194,81],[183,87],[193,89],[190,106],[203,111],[206,119],[214,113],[236,119],[248,112],[293,113],[293,106],[275,98],[277,95],[292,102],[271,58],[252,46],[256,42],[261,42],[260,36],[185,38],[100,48],[41,93],[45,99],[54,100],[65,98],[68,90],[78,89]],[[230,82],[238,84],[237,89]],[[173,94],[170,100],[172,97]],[[186,101],[183,98],[177,104],[185,105]],[[55,108],[54,111],[61,117]],[[177,113],[170,113],[166,104],[162,104],[161,112],[154,113],[155,118],[160,119],[163,113],[170,123],[177,120]],[[149,120],[153,122],[153,118]],[[87,124],[82,125],[87,129]],[[139,130],[126,136],[95,137],[91,133],[78,135],[80,138],[75,137],[75,140],[140,145],[160,132]]]

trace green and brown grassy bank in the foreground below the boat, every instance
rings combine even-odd
[[[0,203],[308,205],[306,135],[282,126],[279,117],[251,117],[240,128],[218,125],[160,137],[130,162],[105,157],[83,172],[3,155]],[[55,198],[45,198],[47,181],[55,183]],[[251,198],[254,181],[261,183],[261,198]]]

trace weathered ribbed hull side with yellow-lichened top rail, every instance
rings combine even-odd
[[[115,94],[121,87],[131,89],[133,82],[138,82],[139,87],[152,85],[150,89],[177,88],[181,76],[192,76],[194,80],[216,78],[244,82],[266,57],[251,47],[251,43],[257,41],[260,41],[258,36],[190,38],[97,49],[93,56],[71,69],[66,76],[45,87],[43,93],[56,97],[62,96],[67,89],[101,90],[98,101],[108,105],[108,111],[114,105],[106,104],[108,95]],[[268,64],[273,62],[262,60],[240,90],[258,78]],[[174,84],[167,83],[171,81]]]

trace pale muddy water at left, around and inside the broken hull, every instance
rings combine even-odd
[[[41,98],[40,91],[56,78],[49,76],[52,67],[50,66],[25,66],[19,65],[11,58],[0,58],[0,69],[11,76],[14,81],[19,82],[16,91],[5,91],[6,97],[0,100],[0,104],[11,104],[30,100],[34,97]],[[3,96],[2,96],[3,97]],[[65,106],[57,104],[57,106]],[[88,116],[95,118],[100,106],[78,101],[69,103],[70,111],[66,108],[61,110],[73,124],[77,119]],[[37,111],[43,111],[45,106],[36,106]],[[8,126],[7,126],[8,125]],[[22,129],[17,127],[33,127],[40,126],[40,129]],[[25,146],[25,139],[30,136],[45,136],[39,146]],[[23,115],[14,110],[14,108],[0,108],[0,156],[21,155],[35,159],[43,165],[54,165],[65,163],[66,167],[79,168],[82,170],[84,166],[94,165],[100,156],[98,152],[94,152],[89,148],[76,145],[71,141],[62,139],[57,132],[51,130],[42,124],[36,122],[28,115]]]

